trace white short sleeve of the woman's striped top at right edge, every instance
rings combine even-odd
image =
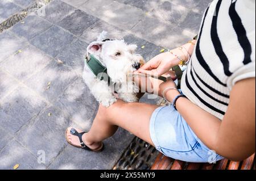
[[[232,90],[232,87],[242,79],[246,78],[255,78],[255,61],[250,62],[247,65],[242,66],[241,68],[237,69],[229,78],[227,81],[227,85],[230,90]]]

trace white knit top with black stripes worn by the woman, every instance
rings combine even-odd
[[[205,11],[181,90],[222,120],[234,84],[251,77],[255,77],[255,0],[214,0]]]

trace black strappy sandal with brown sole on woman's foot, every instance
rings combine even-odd
[[[86,132],[77,132],[76,129],[74,128],[71,128],[70,130],[70,133],[74,136],[77,136],[79,137],[79,140],[80,140],[80,144],[81,146],[77,146],[77,145],[73,145],[67,138],[67,132],[68,132],[68,128],[66,129],[66,133],[65,133],[65,137],[66,137],[66,140],[68,141],[69,144],[71,144],[72,146],[75,146],[76,148],[82,148],[82,149],[85,149],[85,150],[88,150],[88,151],[94,151],[94,152],[101,152],[103,149],[104,149],[104,144],[103,142],[101,142],[101,146],[97,149],[90,149],[88,146],[85,145],[84,141],[82,141],[82,135]]]

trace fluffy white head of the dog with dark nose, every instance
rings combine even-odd
[[[124,40],[111,40],[94,41],[87,51],[106,66],[113,82],[122,83],[127,80],[129,73],[138,69],[134,65],[144,64],[142,56],[135,54],[136,49],[137,45],[128,45]]]

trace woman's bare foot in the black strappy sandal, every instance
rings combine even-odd
[[[73,130],[72,130],[73,129]],[[72,127],[69,127],[66,129],[66,140],[68,141],[69,144],[77,147],[77,148],[82,148],[81,141],[79,139],[79,136],[76,136],[75,134],[72,134],[72,131],[76,131],[77,133],[84,133],[80,129],[74,129]],[[103,143],[102,142],[88,142],[86,141],[86,134],[82,134],[82,142],[92,151],[102,151],[103,148]]]

